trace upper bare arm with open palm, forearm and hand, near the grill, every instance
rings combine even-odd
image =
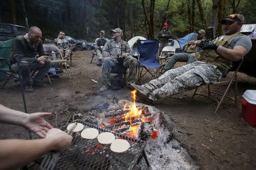
[[[0,122],[24,126],[28,130],[44,138],[47,131],[52,129],[44,116],[51,116],[52,113],[31,113],[27,114],[7,108],[0,104]]]

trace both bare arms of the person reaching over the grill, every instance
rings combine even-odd
[[[23,113],[9,109],[0,104],[0,122],[23,126],[39,135],[42,139],[1,139],[0,169],[18,169],[30,163],[46,152],[63,151],[72,142],[72,136],[58,133],[46,138],[46,133],[52,129],[44,117],[51,113]]]

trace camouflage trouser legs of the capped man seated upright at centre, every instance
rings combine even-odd
[[[102,65],[102,85],[111,86],[110,71],[112,67],[116,67],[117,65],[117,57],[104,58]],[[129,68],[127,84],[134,83],[136,79],[138,60],[132,56],[127,56],[125,59],[123,59],[123,66]]]

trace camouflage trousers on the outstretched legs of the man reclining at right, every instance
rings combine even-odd
[[[222,73],[216,66],[195,61],[188,65],[166,71],[158,79],[142,86],[147,88],[156,99],[192,90],[204,84],[219,81]]]

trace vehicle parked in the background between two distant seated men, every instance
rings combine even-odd
[[[93,44],[85,40],[76,40],[71,36],[65,36],[65,38],[72,44],[76,50],[81,51],[83,49],[91,50],[94,48]]]

